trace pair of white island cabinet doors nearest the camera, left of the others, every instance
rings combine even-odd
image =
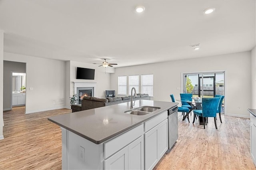
[[[105,170],[143,170],[144,140],[143,136],[104,160]]]

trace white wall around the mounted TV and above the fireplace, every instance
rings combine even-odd
[[[95,69],[94,80],[76,79],[76,67]],[[107,68],[107,69],[108,69],[108,72],[112,72],[112,73],[114,72],[113,68]],[[94,65],[94,64],[70,61],[70,96],[74,94],[74,83],[73,83],[74,81],[96,83],[96,91],[94,92],[95,97],[105,98],[105,90],[111,90],[110,89],[110,73],[105,73],[104,67],[98,67],[98,65]]]

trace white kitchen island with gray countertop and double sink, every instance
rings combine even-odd
[[[62,129],[62,169],[154,168],[168,149],[168,110],[176,105],[138,100],[134,109],[158,109],[146,115],[127,114],[126,102],[49,117]],[[178,125],[178,119],[174,121]]]

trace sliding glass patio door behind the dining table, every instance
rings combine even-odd
[[[215,95],[225,96],[225,71],[183,73],[182,77],[182,93],[192,93],[193,97],[200,98],[210,98]],[[223,113],[225,98],[222,103]]]

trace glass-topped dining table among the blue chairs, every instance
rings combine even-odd
[[[181,102],[186,102],[186,103],[188,103],[188,105],[191,106],[191,109],[189,109],[189,112],[186,115],[184,115],[182,121],[184,121],[188,117],[189,113],[191,113],[193,110],[195,110],[195,109],[201,110],[202,109],[201,99],[200,100],[176,99],[176,100],[181,101]],[[196,116],[196,115],[194,115],[194,116]],[[201,116],[199,116],[199,124],[204,125],[203,117],[201,117]],[[207,125],[206,121],[205,121],[205,125]]]

